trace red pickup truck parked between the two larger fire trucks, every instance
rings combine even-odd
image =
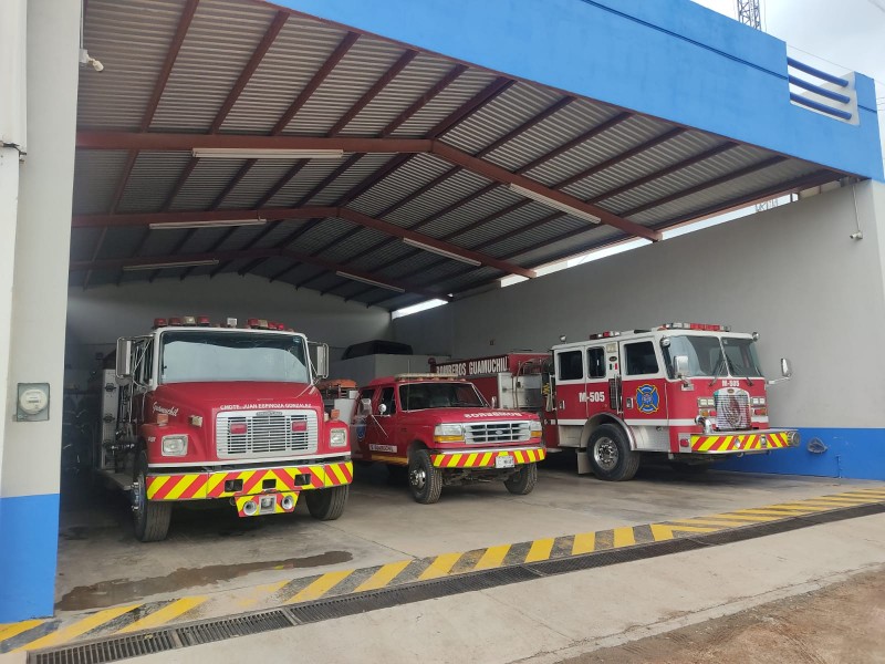
[[[407,469],[415,500],[444,486],[500,480],[527,495],[546,450],[533,413],[492,408],[472,383],[440,374],[400,374],[360,392],[351,422],[353,457]]]

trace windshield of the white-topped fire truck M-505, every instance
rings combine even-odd
[[[756,342],[737,336],[670,336],[670,345],[664,349],[667,375],[675,378],[673,359],[677,355],[688,357],[688,376],[736,376],[758,377],[759,360]],[[722,350],[725,349],[725,351]]]

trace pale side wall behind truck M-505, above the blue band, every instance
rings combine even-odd
[[[862,183],[394,321],[416,352],[544,351],[669,321],[759,331],[773,423],[885,427],[885,185]],[[863,240],[850,235],[860,222]],[[493,344],[492,344],[493,341]]]

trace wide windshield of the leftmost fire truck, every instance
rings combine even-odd
[[[263,381],[309,383],[300,336],[253,332],[166,332],[160,383]]]

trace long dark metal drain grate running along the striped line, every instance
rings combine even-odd
[[[248,634],[260,634],[304,623],[316,623],[335,618],[356,615],[400,604],[444,598],[465,592],[488,590],[499,585],[531,581],[580,570],[633,562],[659,556],[669,556],[707,547],[717,547],[748,539],[790,532],[819,523],[830,523],[857,517],[885,512],[885,502],[846,507],[823,513],[788,517],[780,521],[752,523],[732,530],[698,533],[662,542],[649,542],[623,549],[608,549],[527,564],[469,572],[433,581],[417,581],[393,588],[374,590],[326,600],[294,604],[284,609],[258,611],[232,618],[211,619],[165,627],[129,636],[101,639],[76,645],[29,653],[29,664],[104,664],[138,655],[223,641]]]

